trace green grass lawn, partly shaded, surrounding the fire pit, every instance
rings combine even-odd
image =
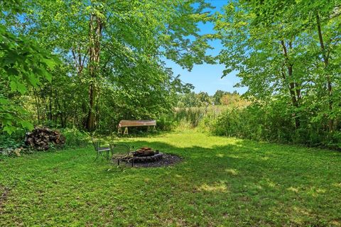
[[[6,158],[0,226],[341,226],[341,153],[194,131],[126,143],[183,162],[108,171],[91,148]]]

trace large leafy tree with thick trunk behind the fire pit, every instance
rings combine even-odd
[[[83,89],[79,115],[86,113],[82,121],[88,131],[99,123],[102,107],[105,108],[99,100],[107,96],[104,91],[114,92],[111,98],[132,100],[130,105],[135,108],[124,106],[130,113],[136,114],[136,106],[139,113],[146,113],[142,111],[145,107],[152,108],[144,101],[151,101],[151,93],[163,100],[153,108],[164,109],[161,106],[165,101],[171,101],[166,96],[181,86],[164,67],[162,57],[189,70],[193,64],[213,62],[212,57],[205,55],[210,36],[200,35],[197,28],[198,22],[211,20],[205,12],[210,5],[202,0],[38,0],[26,1],[26,5],[30,13],[16,19],[16,32],[38,40],[63,59],[63,68],[69,69],[64,72],[65,77],[72,77],[78,83],[77,89]],[[6,23],[11,26],[12,22]],[[148,99],[143,100],[146,96]],[[117,102],[112,106],[121,105],[121,100],[112,101]],[[141,106],[142,103],[147,106]]]

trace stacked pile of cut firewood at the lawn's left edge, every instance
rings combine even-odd
[[[36,127],[31,133],[26,133],[26,145],[36,150],[48,150],[50,145],[58,146],[65,143],[65,137],[58,131],[47,127]]]

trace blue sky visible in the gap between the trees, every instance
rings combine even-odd
[[[213,11],[220,11],[222,6],[227,3],[224,0],[207,0],[212,6],[215,6]],[[202,33],[214,33],[212,23],[200,23],[200,31]],[[208,50],[207,53],[210,55],[217,55],[220,50],[222,50],[222,44],[219,40],[214,40],[210,42],[213,50]],[[180,79],[185,83],[190,83],[195,86],[194,91],[197,92],[207,92],[212,95],[215,94],[217,89],[226,92],[237,91],[240,94],[247,91],[247,88],[234,87],[234,84],[239,82],[239,78],[236,77],[236,73],[232,72],[226,77],[222,78],[222,71],[224,70],[224,65],[195,65],[191,72],[188,70],[183,70],[179,65],[176,65],[171,60],[166,60],[166,65],[173,69],[174,75],[180,74]]]

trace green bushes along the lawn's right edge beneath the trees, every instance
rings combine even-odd
[[[291,113],[277,106],[251,105],[244,109],[227,109],[212,119],[210,131],[215,135],[235,136],[251,140],[295,143],[312,147],[341,148],[341,133],[328,133],[321,122],[308,121],[310,116],[301,114],[301,126],[295,128]]]

